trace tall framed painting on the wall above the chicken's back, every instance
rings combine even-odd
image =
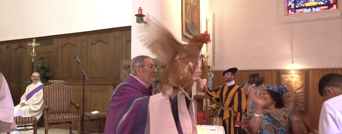
[[[182,31],[190,39],[200,33],[200,3],[200,0],[182,0]]]

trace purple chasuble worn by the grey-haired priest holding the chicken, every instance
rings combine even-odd
[[[152,96],[153,90],[155,89],[152,86],[146,88],[136,78],[128,75],[126,80],[114,89],[108,105],[104,134],[149,134],[149,118],[158,118],[148,113],[149,96]],[[173,100],[170,98],[170,103],[177,104],[177,97]],[[171,109],[173,115],[177,114],[175,122],[178,122],[178,110],[177,113],[173,112],[178,109],[177,105],[171,104]],[[178,123],[177,130],[182,134],[179,128]]]

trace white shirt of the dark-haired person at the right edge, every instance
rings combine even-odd
[[[319,134],[342,134],[342,95],[323,103],[318,131]]]

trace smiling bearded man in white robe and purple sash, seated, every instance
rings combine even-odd
[[[37,120],[43,113],[44,85],[40,82],[40,74],[34,72],[31,75],[32,84],[26,87],[19,105],[14,107],[14,116],[35,116]],[[31,126],[32,127],[32,126]],[[15,131],[14,133],[18,133]]]

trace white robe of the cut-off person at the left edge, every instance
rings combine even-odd
[[[8,87],[5,77],[0,73],[0,133],[8,133],[17,130],[13,119],[13,111],[14,105],[10,88]]]

